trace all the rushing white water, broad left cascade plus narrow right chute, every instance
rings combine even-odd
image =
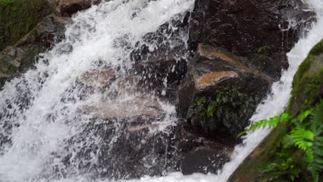
[[[313,45],[323,38],[323,1],[308,0],[306,3],[317,13],[317,22],[288,53],[288,70],[272,85],[271,94],[258,106],[251,121],[268,119],[284,111],[297,67]],[[151,75],[133,71],[133,52],[143,46],[148,52],[154,52],[163,45],[186,50],[188,32],[179,28],[178,22],[184,21],[193,6],[194,0],[130,0],[126,3],[115,0],[93,6],[73,17],[65,32],[66,39],[41,54],[35,70],[6,83],[0,92],[0,182],[108,181],[96,178],[97,174],[106,172],[99,168],[103,154],[98,151],[116,154],[112,149],[124,139],[121,131],[124,123],[135,122],[129,118],[144,113],[150,116],[148,120],[155,119],[149,121],[155,127],[148,135],[158,131],[167,133],[168,127],[176,121],[175,106],[162,97],[166,94],[167,76],[159,94],[149,90],[149,86],[143,91],[140,81],[136,80]],[[166,29],[160,30],[163,25]],[[172,56],[176,61],[186,59],[185,53]],[[102,83],[101,74],[97,72],[112,75],[104,77],[105,81],[110,79],[110,83]],[[91,75],[97,77],[93,79]],[[144,105],[151,110],[142,109]],[[103,114],[102,108],[116,112]],[[113,120],[112,125],[107,125],[112,128],[113,135],[105,143],[101,143],[92,129],[84,134],[84,128],[94,118],[101,118],[99,125],[106,124],[109,117],[124,119]],[[170,172],[163,177],[145,176],[125,181],[227,181],[268,132],[258,130],[245,136],[242,145],[235,147],[232,161],[226,163],[219,174],[183,176]],[[141,143],[144,145],[146,141]],[[108,145],[109,148],[95,148],[94,145]],[[92,152],[82,156],[88,149]],[[121,158],[122,152],[117,152]],[[145,156],[144,170],[154,170],[154,165],[168,162],[151,157]],[[118,163],[113,164],[113,169],[122,168],[115,165]],[[112,172],[117,178],[119,170]]]

